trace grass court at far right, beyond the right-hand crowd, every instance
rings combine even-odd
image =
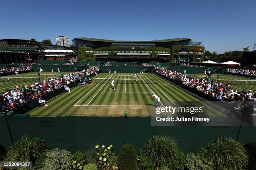
[[[196,75],[199,77],[204,77],[204,74],[191,74],[191,75]],[[212,78],[214,78],[214,80],[217,80],[217,74],[216,75],[212,75]],[[243,91],[243,89],[248,90],[252,90],[252,92],[256,92],[256,81],[255,82],[248,82],[248,85],[245,85],[245,82],[240,82],[240,81],[236,81],[236,80],[256,80],[255,78],[249,78],[249,77],[240,77],[240,76],[236,76],[236,75],[220,75],[219,77],[220,81],[219,82],[229,82],[230,83],[230,87],[232,87],[234,90],[237,90],[238,92]],[[224,80],[221,80],[224,79]],[[233,81],[227,81],[227,80],[233,80]]]

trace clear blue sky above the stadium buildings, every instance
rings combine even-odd
[[[57,35],[109,40],[191,38],[206,50],[242,50],[256,42],[255,0],[5,0],[0,39]]]

